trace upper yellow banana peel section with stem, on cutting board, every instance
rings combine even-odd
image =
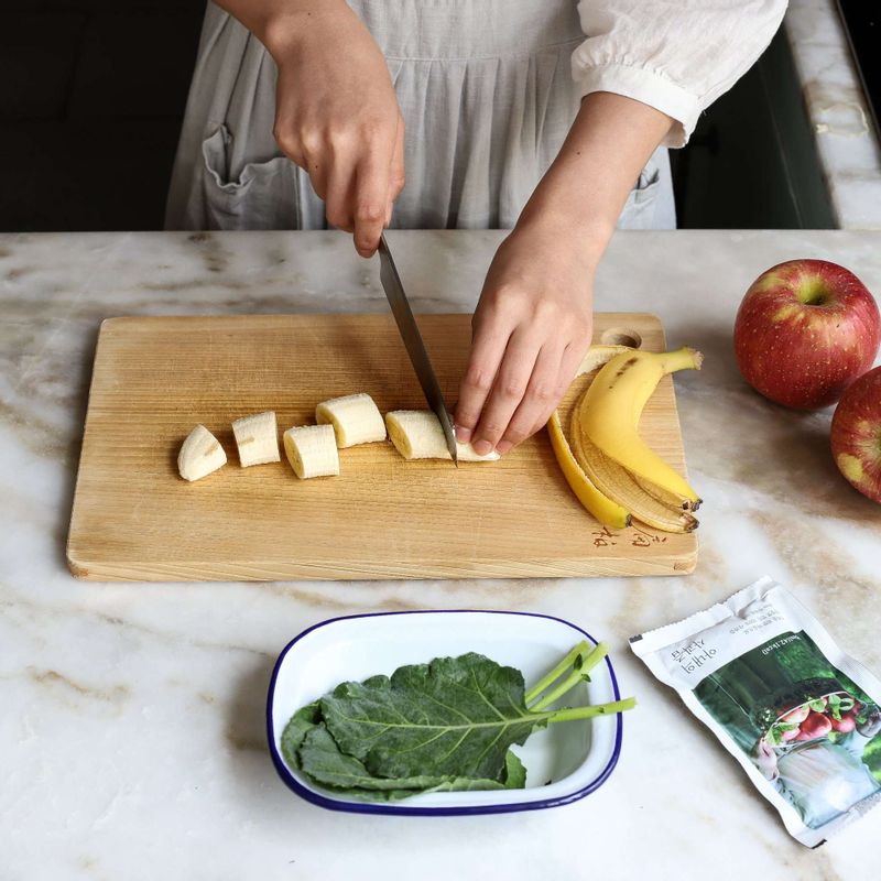
[[[689,348],[668,352],[621,352],[597,373],[576,410],[584,437],[601,453],[634,478],[648,481],[689,507],[699,503],[697,493],[643,442],[639,421],[662,377],[676,370],[698,369],[701,360],[700,352]]]

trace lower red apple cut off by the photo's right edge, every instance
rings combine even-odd
[[[838,402],[831,443],[838,470],[881,502],[881,367],[861,376]]]

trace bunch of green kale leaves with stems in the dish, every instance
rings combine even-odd
[[[630,709],[632,698],[548,707],[606,656],[579,643],[533,688],[474,652],[399,667],[391,677],[345,682],[298,709],[281,738],[284,760],[336,795],[393,801],[420,792],[523,788],[511,750],[548,722]]]

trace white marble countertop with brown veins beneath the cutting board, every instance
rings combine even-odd
[[[498,232],[392,233],[417,311],[470,309]],[[817,851],[627,648],[769,573],[881,670],[881,509],[838,476],[828,414],[751,393],[731,355],[740,296],[794,257],[881,291],[881,235],[623,232],[600,309],[653,311],[706,352],[676,378],[706,503],[694,575],[660,579],[94,585],[64,565],[99,322],[124,314],[377,311],[376,265],[341,233],[0,237],[0,878],[861,879],[881,811]],[[608,638],[639,708],[621,762],[574,805],[482,818],[333,814],[275,776],[273,661],[325,618],[501,608]],[[491,870],[488,869],[491,867]]]

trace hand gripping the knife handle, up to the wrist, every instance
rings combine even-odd
[[[275,140],[308,174],[328,224],[370,257],[404,185],[404,120],[385,58],[344,0],[289,3],[262,36],[279,68]]]

